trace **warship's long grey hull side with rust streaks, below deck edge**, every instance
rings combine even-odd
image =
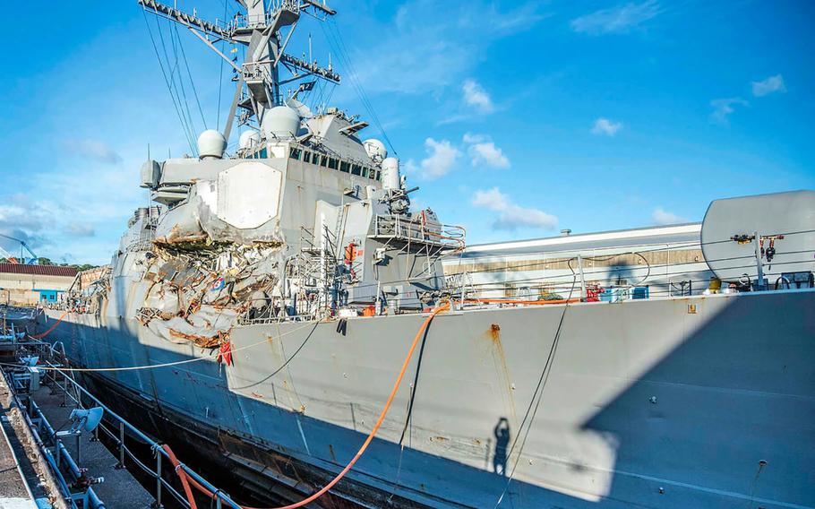
[[[511,507],[815,506],[813,309],[815,292],[791,290],[439,315],[338,491],[376,506],[493,507],[505,489]],[[307,492],[356,453],[423,320],[240,325],[233,366],[91,380],[168,444],[200,437],[247,488]],[[66,315],[47,339],[81,367],[212,351],[104,313]]]

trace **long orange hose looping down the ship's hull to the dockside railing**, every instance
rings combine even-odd
[[[362,457],[363,453],[365,453],[365,449],[367,449],[368,445],[371,444],[371,442],[373,441],[373,437],[376,436],[376,432],[379,431],[379,427],[382,426],[382,421],[385,420],[385,416],[388,414],[388,410],[390,410],[390,405],[391,403],[393,403],[393,398],[396,397],[396,393],[399,390],[399,385],[402,383],[402,378],[405,377],[407,366],[409,366],[410,364],[410,358],[413,357],[413,352],[416,350],[416,345],[419,343],[419,340],[424,335],[425,330],[427,330],[427,326],[430,325],[431,322],[433,322],[433,318],[435,318],[436,315],[442,313],[442,311],[449,308],[450,308],[449,303],[436,307],[435,309],[433,309],[433,312],[430,315],[428,315],[427,318],[425,318],[425,322],[422,323],[422,326],[419,327],[419,331],[416,332],[416,337],[410,344],[410,349],[407,350],[407,356],[405,357],[405,361],[402,363],[402,368],[399,370],[399,375],[396,377],[396,382],[394,382],[393,384],[393,389],[390,390],[388,401],[385,401],[385,406],[382,408],[382,412],[380,412],[379,418],[376,419],[376,424],[373,425],[371,433],[369,433],[368,437],[365,438],[365,442],[359,448],[359,451],[356,452],[356,455],[351,459],[351,461],[348,462],[345,468],[342,469],[342,471],[340,471],[339,474],[337,474],[337,477],[331,479],[327,485],[322,487],[322,489],[320,489],[319,491],[315,492],[312,496],[304,498],[303,500],[301,500],[300,502],[296,502],[295,504],[284,505],[282,507],[276,507],[274,509],[296,509],[297,507],[303,507],[304,505],[311,504],[314,500],[317,500],[321,496],[325,495],[332,487],[334,487],[334,485],[336,485],[339,482],[339,479],[345,477],[345,475],[348,473],[348,470],[351,470],[351,467],[353,467],[356,461],[359,460],[360,457]],[[170,457],[170,462],[172,462],[173,465],[176,467],[176,472],[178,473],[178,477],[181,478],[181,482],[184,485],[184,492],[187,495],[187,500],[189,501],[190,506],[193,509],[196,509],[195,501],[193,500],[193,494],[189,490],[187,473],[184,471],[184,469],[180,468],[180,463],[176,459],[176,455],[173,454],[172,451],[170,451],[169,446],[165,444],[163,447]],[[214,493],[212,493],[206,487],[203,487],[195,479],[189,478],[189,481],[191,481],[193,483],[193,486],[197,487],[204,495],[209,496],[210,498],[215,496]],[[257,508],[244,506],[244,509],[257,509]]]

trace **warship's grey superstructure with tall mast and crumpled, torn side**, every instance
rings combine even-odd
[[[410,211],[399,160],[379,140],[359,139],[365,122],[338,108],[313,114],[298,100],[313,87],[306,78],[340,77],[288,56],[287,42],[305,13],[334,11],[317,2],[249,2],[245,16],[221,28],[158,2],[141,4],[193,31],[237,73],[223,134],[204,132],[197,158],[142,167],[142,186],[157,205],[135,212],[112,263],[114,280],[136,271],[150,281],[137,312],[142,323],[172,317],[161,322],[177,326],[151,326],[197,335],[197,315],[206,321],[217,306],[223,316],[227,306],[233,313],[216,327],[223,336],[238,315],[300,320],[432,306],[443,283],[439,258],[464,246],[463,230],[442,226],[429,209]],[[246,61],[236,65],[210,36],[247,46]],[[292,85],[288,93],[283,83]],[[236,108],[247,130],[227,157]],[[158,258],[132,265],[154,247]]]

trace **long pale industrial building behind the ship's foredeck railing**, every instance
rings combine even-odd
[[[604,300],[687,295],[708,288],[701,223],[468,246],[444,261],[450,282],[479,298]],[[636,288],[636,289],[635,289]]]

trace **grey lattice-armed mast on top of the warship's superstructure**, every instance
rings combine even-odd
[[[317,0],[273,0],[268,7],[264,0],[236,1],[243,7],[243,11],[237,13],[232,20],[219,24],[207,22],[195,13],[184,13],[156,0],[138,0],[145,11],[184,25],[235,69],[235,97],[223,132],[227,140],[237,108],[244,112],[240,116],[241,124],[248,123],[253,116],[260,124],[267,110],[283,104],[281,85],[308,76],[336,84],[340,80],[339,74],[334,73],[331,65],[321,67],[316,61],[306,62],[285,53],[301,13],[309,13],[324,21],[328,16],[336,14],[336,11]],[[284,30],[287,27],[288,30]],[[222,40],[246,47],[246,59],[242,64],[236,64],[215,46]],[[281,65],[290,74],[290,77],[282,81],[279,73]],[[247,91],[245,94],[244,85]]]

